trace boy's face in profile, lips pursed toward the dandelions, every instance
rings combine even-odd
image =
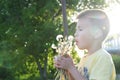
[[[92,46],[94,37],[91,30],[92,27],[89,20],[79,19],[75,32],[75,41],[79,49],[89,49]]]

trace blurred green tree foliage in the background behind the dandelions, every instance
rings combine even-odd
[[[66,2],[68,17],[74,11],[105,7],[104,0]],[[0,73],[6,72],[6,80],[54,78],[56,52],[51,44],[63,34],[61,12],[60,0],[0,0]],[[75,22],[68,19],[68,27],[73,34]]]

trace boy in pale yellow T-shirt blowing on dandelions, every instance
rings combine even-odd
[[[101,10],[86,10],[78,15],[75,41],[79,49],[88,53],[75,68],[71,57],[62,56],[55,67],[68,71],[69,80],[115,80],[116,73],[111,55],[102,49],[109,32],[109,20]]]

